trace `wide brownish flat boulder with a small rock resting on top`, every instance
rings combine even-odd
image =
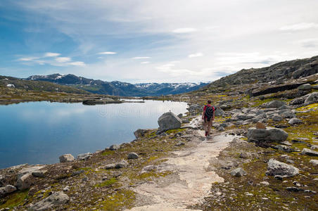
[[[248,129],[248,141],[285,141],[287,137],[288,133],[279,128],[256,129],[251,127]]]

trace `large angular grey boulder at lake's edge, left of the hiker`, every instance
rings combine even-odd
[[[161,115],[158,119],[159,130],[165,131],[168,129],[177,129],[181,127],[182,120],[172,112],[167,112]]]

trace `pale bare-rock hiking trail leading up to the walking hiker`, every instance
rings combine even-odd
[[[199,124],[199,117],[190,125]],[[133,188],[137,194],[137,207],[141,210],[189,210],[189,205],[200,203],[208,196],[212,183],[224,182],[215,172],[209,170],[210,160],[217,158],[229,146],[235,136],[218,134],[203,141],[204,132],[196,130],[191,143],[183,151],[174,151],[166,161],[158,165],[160,172],[174,172],[155,181],[147,181]]]

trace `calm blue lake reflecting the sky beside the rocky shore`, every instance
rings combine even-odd
[[[134,139],[136,129],[158,128],[171,110],[186,113],[186,103],[146,101],[84,106],[32,102],[0,106],[0,168],[23,163],[59,162],[58,156],[93,153]]]

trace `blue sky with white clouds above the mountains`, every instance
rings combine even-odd
[[[316,0],[0,1],[0,75],[206,82],[318,55]]]

